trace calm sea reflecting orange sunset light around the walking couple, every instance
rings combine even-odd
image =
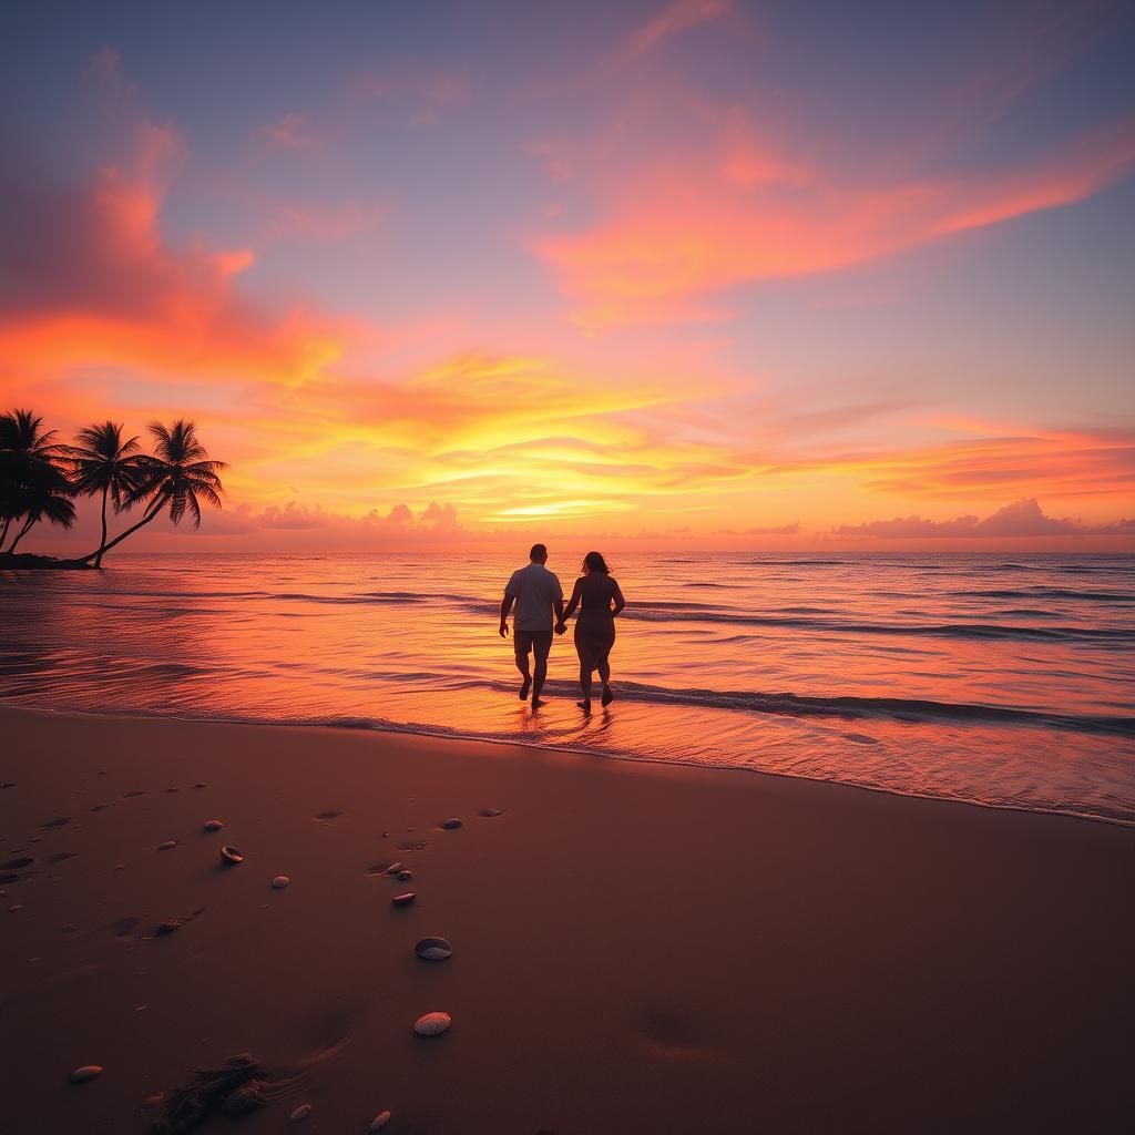
[[[570,589],[577,556],[553,560]],[[617,700],[515,696],[501,556],[0,573],[0,697],[522,741],[1135,823],[1135,557],[627,556]],[[313,753],[318,759],[318,753]]]

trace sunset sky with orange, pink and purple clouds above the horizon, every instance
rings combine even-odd
[[[0,44],[0,409],[230,465],[135,549],[1135,548],[1129,3],[41,2]]]

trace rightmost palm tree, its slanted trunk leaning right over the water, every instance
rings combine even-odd
[[[83,556],[83,562],[104,555],[127,536],[149,524],[167,505],[169,519],[178,524],[186,512],[193,515],[194,527],[201,526],[201,501],[220,507],[224,487],[218,476],[224,461],[211,461],[205,447],[197,440],[196,426],[179,418],[171,426],[151,422],[154,436],[154,456],[138,456],[137,485],[126,494],[123,506],[128,508],[145,501],[145,514],[109,544]]]

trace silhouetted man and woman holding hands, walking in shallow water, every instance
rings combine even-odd
[[[564,608],[564,592],[557,575],[548,571],[548,549],[533,544],[529,553],[531,563],[512,573],[501,600],[501,638],[508,637],[508,612],[513,604],[513,645],[516,649],[516,669],[523,675],[520,699],[531,690],[532,708],[544,705],[540,691],[548,673],[548,653],[552,650],[552,615],[555,613],[555,632],[568,630],[568,620],[579,609],[575,620],[575,653],[579,655],[579,688],[583,695],[577,703],[585,713],[591,712],[591,674],[599,672],[603,682],[603,704],[611,705],[611,664],[607,655],[615,645],[615,615],[627,605],[619,585],[611,578],[607,565],[598,552],[583,557],[583,574]],[[528,656],[535,654],[535,673],[529,673]]]

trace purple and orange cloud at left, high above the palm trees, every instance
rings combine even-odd
[[[132,158],[91,185],[0,185],[0,373],[111,365],[297,380],[342,353],[345,325],[238,294],[251,249],[169,244],[159,215],[179,160],[174,133],[143,123]]]

